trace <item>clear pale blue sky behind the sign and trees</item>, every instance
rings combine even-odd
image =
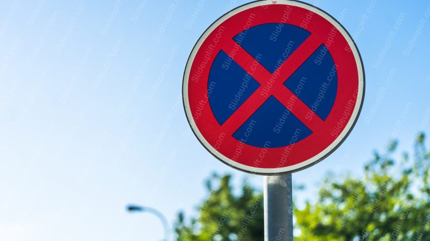
[[[194,213],[211,172],[231,172],[236,183],[249,176],[261,186],[262,177],[207,153],[180,98],[200,34],[245,2],[1,3],[0,240],[157,241],[159,221],[126,213],[126,204],[158,208],[172,223],[179,209]],[[293,174],[294,183],[308,184],[294,194],[298,205],[316,195],[326,172],[359,176],[389,138],[408,150],[418,130],[430,133],[429,2],[306,2],[354,36],[366,95],[344,144]]]

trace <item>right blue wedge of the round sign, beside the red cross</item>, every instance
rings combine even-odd
[[[322,120],[332,110],[338,89],[338,73],[332,55],[322,44],[284,85]]]

